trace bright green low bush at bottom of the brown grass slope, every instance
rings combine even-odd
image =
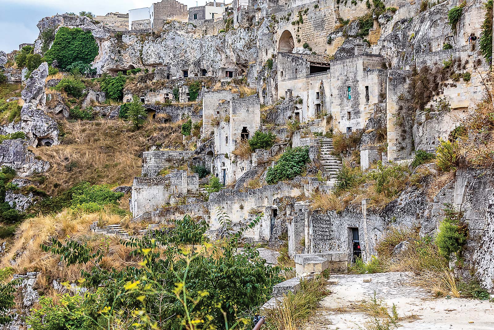
[[[91,185],[88,182],[73,187],[71,194],[71,208],[84,212],[96,212],[108,204],[117,205],[124,196],[123,192],[114,192],[107,185]]]

